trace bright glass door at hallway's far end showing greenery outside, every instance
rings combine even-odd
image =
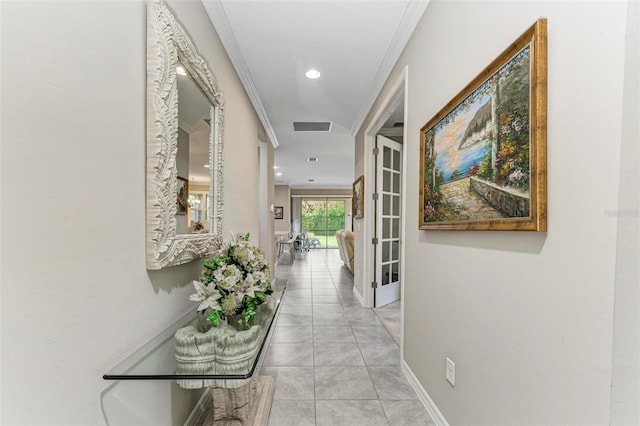
[[[336,231],[345,228],[344,199],[302,198],[300,216],[310,249],[338,248]]]

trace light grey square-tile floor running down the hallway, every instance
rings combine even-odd
[[[267,348],[269,425],[434,425],[400,371],[400,349],[353,295],[338,250],[298,255]]]

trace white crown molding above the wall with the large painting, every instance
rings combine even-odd
[[[351,127],[351,136],[355,137],[358,130],[360,130],[362,123],[364,123],[365,118],[367,118],[367,115],[378,98],[384,83],[389,78],[393,67],[395,67],[398,62],[398,59],[409,42],[413,31],[416,29],[416,26],[418,26],[420,19],[422,19],[422,15],[427,9],[429,2],[430,0],[410,0],[407,4],[400,24],[398,25],[398,29],[389,44],[387,53],[384,55],[384,58],[380,63],[380,67],[378,67],[373,83],[371,83],[369,98],[358,113],[358,116]]]

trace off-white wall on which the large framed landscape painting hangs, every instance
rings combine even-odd
[[[404,357],[450,424],[609,422],[626,13],[627,2],[432,1],[389,78],[408,65]],[[548,232],[419,231],[420,127],[539,17]]]

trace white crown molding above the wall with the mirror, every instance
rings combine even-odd
[[[278,138],[271,126],[267,111],[262,105],[258,89],[256,89],[256,86],[253,83],[253,77],[251,77],[249,67],[247,67],[247,63],[242,55],[242,51],[238,45],[238,40],[236,39],[236,35],[233,32],[233,28],[231,27],[231,23],[227,17],[227,12],[224,9],[223,2],[203,0],[202,4],[204,5],[207,15],[209,15],[209,20],[218,33],[218,37],[220,37],[220,41],[227,51],[227,55],[229,56],[236,73],[238,73],[238,77],[240,78],[240,81],[244,86],[244,90],[247,92],[247,96],[249,96],[249,99],[256,110],[256,114],[258,114],[258,118],[271,141],[271,145],[273,145],[273,148],[277,148],[280,145],[278,143]]]

